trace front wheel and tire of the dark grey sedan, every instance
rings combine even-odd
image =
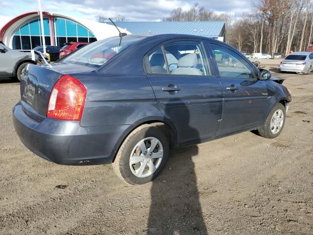
[[[273,139],[280,135],[286,120],[286,109],[281,103],[275,105],[266,119],[264,125],[258,129],[260,136]]]

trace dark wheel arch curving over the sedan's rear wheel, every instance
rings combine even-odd
[[[124,132],[122,137],[119,139],[119,141],[114,146],[114,157],[112,159],[112,163],[115,161],[116,154],[118,153],[120,146],[125,141],[125,139],[139,126],[142,125],[151,125],[151,126],[157,126],[159,127],[167,136],[170,141],[170,147],[175,147],[178,142],[178,135],[176,128],[174,124],[168,120],[167,118],[161,118],[161,117],[152,117],[149,119],[141,119],[140,121],[137,121],[134,125],[130,125],[130,127]]]

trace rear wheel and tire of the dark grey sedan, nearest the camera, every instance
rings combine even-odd
[[[151,149],[153,143],[156,147]],[[157,126],[144,124],[123,141],[112,166],[117,176],[126,183],[141,185],[156,178],[168,156],[169,140],[165,133]]]

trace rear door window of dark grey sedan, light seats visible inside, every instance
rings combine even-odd
[[[164,45],[149,55],[151,73],[208,75],[203,51],[199,42],[175,42]]]

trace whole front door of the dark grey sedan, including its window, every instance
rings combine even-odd
[[[265,81],[241,55],[221,45],[210,45],[222,83],[223,116],[217,135],[262,124],[268,106]]]

